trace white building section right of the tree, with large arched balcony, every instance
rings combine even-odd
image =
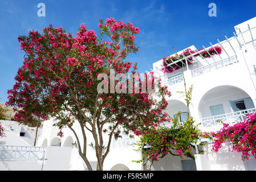
[[[186,87],[193,84],[192,101],[189,107],[190,114],[201,123],[202,131],[217,131],[222,125],[217,122],[237,123],[246,119],[245,114],[255,111],[256,105],[256,17],[237,26],[234,26],[234,36],[216,44],[190,54],[186,60],[193,57],[195,61],[183,68]],[[202,59],[194,55],[202,51],[219,46],[222,53]],[[198,48],[189,47],[192,50]],[[184,48],[186,49],[186,48]],[[178,52],[178,54],[182,53]],[[209,51],[208,51],[209,52]],[[178,60],[179,61],[179,60]],[[170,66],[174,66],[175,61]],[[182,69],[172,73],[164,73],[162,60],[153,63],[153,71],[161,77],[168,86],[172,97],[168,100],[167,112],[169,115],[181,111],[186,118],[187,107],[185,97],[177,91],[185,91],[182,78]],[[256,160],[242,162],[241,154],[230,152],[226,144],[217,154],[210,151],[210,144],[204,147],[204,155],[196,155],[194,160],[180,160],[178,158],[161,159],[155,164],[156,169],[197,169],[197,170],[255,170]],[[172,161],[172,162],[171,162]],[[170,166],[171,163],[171,166]]]

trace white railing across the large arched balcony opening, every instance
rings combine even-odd
[[[221,123],[218,122],[218,120],[224,123],[229,123],[229,124],[242,122],[242,121],[245,121],[245,119],[247,118],[246,114],[252,113],[252,112],[255,112],[255,108],[202,118],[202,126],[211,127],[211,126],[221,125]]]

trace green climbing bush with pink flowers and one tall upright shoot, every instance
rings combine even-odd
[[[178,92],[185,95],[185,101],[188,107],[188,117],[186,121],[178,121],[181,112],[176,114],[176,117],[171,117],[171,125],[169,127],[158,126],[150,128],[145,131],[140,140],[135,143],[139,148],[136,151],[141,152],[140,160],[133,160],[133,162],[141,163],[141,170],[145,170],[145,166],[148,164],[147,170],[150,171],[154,162],[159,161],[159,158],[164,158],[166,155],[184,156],[188,158],[194,158],[193,149],[196,150],[195,144],[198,142],[199,137],[202,136],[202,132],[198,129],[199,124],[196,124],[193,117],[189,114],[189,105],[192,99],[193,85],[186,89],[186,82],[184,74],[185,92]],[[201,154],[204,151],[198,150]]]

